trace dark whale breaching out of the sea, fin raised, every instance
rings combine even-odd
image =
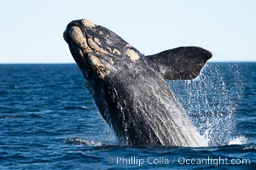
[[[113,31],[73,20],[63,33],[85,86],[120,144],[205,146],[166,79],[199,76],[212,54],[180,47],[145,56]]]

